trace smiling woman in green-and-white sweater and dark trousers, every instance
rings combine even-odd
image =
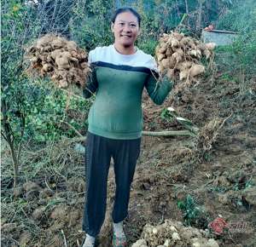
[[[154,103],[160,105],[172,83],[157,83],[156,62],[137,49],[141,17],[134,9],[117,9],[111,29],[113,45],[97,47],[89,53],[93,68],[84,97],[96,92],[90,108],[86,141],[86,203],[83,247],[94,246],[106,211],[108,169],[111,157],[116,182],[113,204],[113,246],[125,246],[123,221],[127,216],[143,129],[142,94],[145,87]]]

